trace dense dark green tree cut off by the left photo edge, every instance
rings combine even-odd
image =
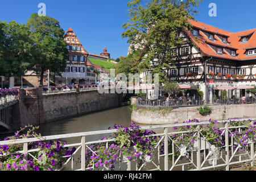
[[[0,75],[23,76],[31,68],[34,42],[24,24],[15,21],[0,22]]]

